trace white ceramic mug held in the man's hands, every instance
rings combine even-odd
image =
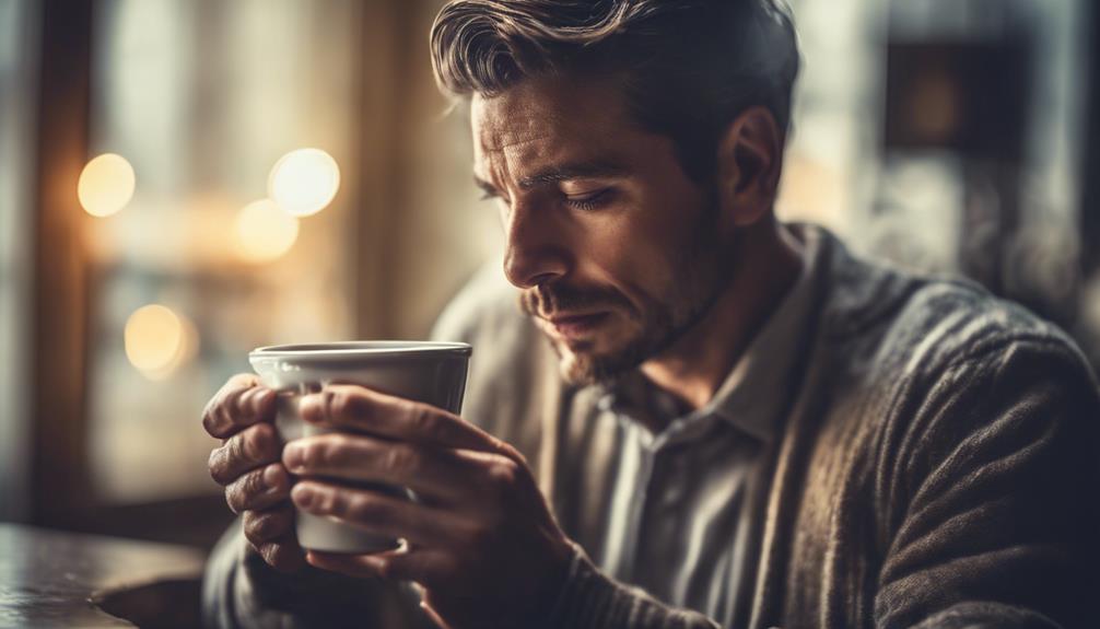
[[[331,383],[358,384],[385,394],[462,410],[472,347],[428,341],[355,341],[258,347],[249,353],[264,386],[278,391],[275,428],[283,443],[330,430],[301,420],[298,400]],[[391,495],[415,497],[403,487],[364,483]],[[334,519],[297,512],[295,528],[305,549],[367,553],[397,548],[398,540],[369,533]]]

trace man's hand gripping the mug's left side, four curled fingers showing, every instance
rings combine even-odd
[[[249,547],[282,571],[305,565],[294,532],[290,477],[279,462],[275,391],[251,374],[238,374],[202,412],[202,427],[222,439],[210,452],[210,476],[226,487],[226,501],[241,515]]]

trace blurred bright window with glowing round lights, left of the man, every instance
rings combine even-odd
[[[99,3],[92,155],[122,156],[136,181],[125,207],[89,220],[102,499],[210,492],[213,442],[198,420],[221,383],[250,371],[249,350],[353,335],[359,18],[354,2]],[[310,168],[333,165],[344,186],[296,218],[268,199],[268,179],[299,148],[315,152],[283,172],[290,186],[323,197],[333,181]]]

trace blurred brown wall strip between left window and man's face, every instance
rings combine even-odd
[[[365,246],[392,249],[383,268],[360,268],[384,276],[373,297],[384,304],[361,302],[359,330],[365,338],[420,339],[450,296],[499,250],[502,236],[496,212],[479,201],[472,185],[466,109],[452,109],[432,77],[428,33],[442,2],[393,5],[395,76],[383,90],[392,100],[393,122],[382,125],[395,129],[396,136],[388,145],[364,142],[367,152],[382,147],[376,163],[389,162],[393,180],[384,185],[391,186],[391,201],[377,208],[386,217],[380,230],[369,224],[361,231]],[[370,186],[364,195],[372,202]]]

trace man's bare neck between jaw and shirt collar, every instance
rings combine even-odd
[[[705,406],[802,272],[802,245],[778,221],[748,228],[734,274],[707,313],[641,365],[654,385],[690,409]]]

